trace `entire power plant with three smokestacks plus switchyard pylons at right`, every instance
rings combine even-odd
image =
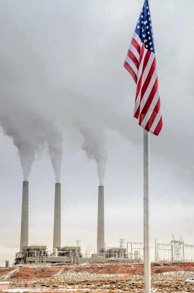
[[[23,182],[22,214],[20,251],[16,253],[13,265],[35,265],[40,263],[81,263],[88,261],[120,261],[142,263],[144,260],[143,243],[127,242],[119,239],[118,247],[108,247],[104,242],[104,186],[98,187],[98,214],[97,214],[97,250],[92,254],[82,251],[80,241],[76,240],[76,246],[61,246],[61,184],[55,184],[54,197],[54,230],[53,250],[47,246],[28,246],[28,197],[29,183]],[[188,256],[187,251],[191,253]],[[169,261],[193,261],[194,246],[185,244],[184,241],[173,240],[168,244],[160,244],[155,241],[155,262]],[[6,266],[9,261],[6,260]]]

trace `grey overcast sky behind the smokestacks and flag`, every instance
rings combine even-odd
[[[123,63],[143,0],[1,0],[0,121],[55,123],[63,134],[61,245],[96,249],[98,176],[84,124],[108,154],[106,246],[143,242],[143,129],[133,118],[136,86]],[[163,129],[150,135],[151,242],[172,234],[194,245],[193,0],[150,0]],[[25,117],[24,120],[22,120]],[[25,122],[26,121],[26,122]],[[30,129],[31,133],[33,129]],[[21,125],[21,133],[23,126]],[[20,246],[23,173],[0,129],[0,265]],[[53,242],[55,177],[46,149],[29,176],[29,245]],[[153,255],[153,252],[152,252]]]

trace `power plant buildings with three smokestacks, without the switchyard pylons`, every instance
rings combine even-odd
[[[87,255],[82,254],[79,240],[77,246],[61,247],[61,184],[55,184],[54,196],[54,229],[53,229],[53,250],[48,251],[47,246],[28,246],[28,201],[29,183],[23,182],[22,191],[22,216],[21,216],[21,235],[20,251],[16,253],[14,265],[40,264],[40,263],[73,263],[92,260],[121,260],[138,261],[138,255],[130,254],[128,249],[123,247],[123,239],[120,239],[119,248],[107,248],[104,243],[104,186],[98,187],[98,214],[97,214],[97,253]],[[139,253],[139,252],[138,252]],[[8,266],[8,261],[6,261]]]

